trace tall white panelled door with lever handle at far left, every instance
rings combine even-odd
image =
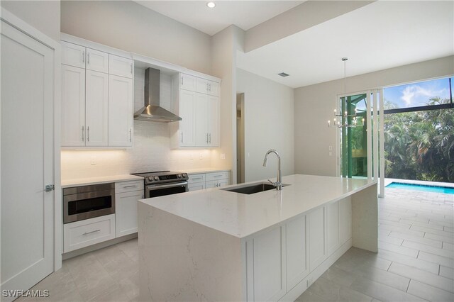
[[[1,21],[2,293],[53,269],[53,101],[53,50]]]

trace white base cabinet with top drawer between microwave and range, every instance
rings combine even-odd
[[[143,181],[115,183],[116,237],[137,233],[137,201],[142,198]]]

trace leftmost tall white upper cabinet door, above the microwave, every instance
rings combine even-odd
[[[62,65],[62,146],[85,145],[85,69]]]

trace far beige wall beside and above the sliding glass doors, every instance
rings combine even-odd
[[[347,93],[394,86],[454,74],[454,56],[384,69],[347,78]],[[295,172],[336,176],[336,128],[328,128],[333,118],[336,95],[343,94],[343,79],[294,89]],[[328,147],[333,146],[333,156]]]

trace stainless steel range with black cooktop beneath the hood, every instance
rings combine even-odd
[[[183,172],[158,171],[134,173],[133,175],[144,177],[145,198],[187,191],[189,177]]]

